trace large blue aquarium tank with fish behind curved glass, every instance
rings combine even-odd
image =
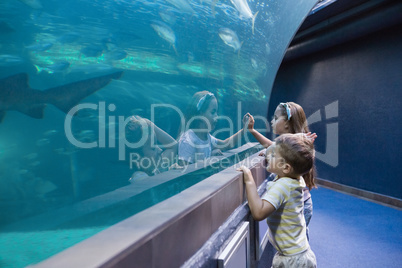
[[[276,72],[316,2],[2,0],[0,267],[38,263],[116,223],[63,209],[101,206],[100,196],[169,172],[133,165],[148,142],[155,154],[169,149],[130,140],[133,118],[142,133],[156,127],[178,141],[187,105],[206,90],[218,102],[213,136],[242,129],[247,112],[270,134]],[[146,193],[141,204],[163,201]],[[128,200],[108,211],[146,207]]]

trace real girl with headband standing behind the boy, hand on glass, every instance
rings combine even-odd
[[[249,116],[248,130],[249,132],[263,145],[268,148],[273,143],[270,139],[266,138],[264,135],[259,133],[254,129],[254,118],[252,115]],[[246,115],[246,116],[247,116]],[[280,103],[275,110],[274,118],[271,121],[272,131],[276,135],[281,135],[285,133],[305,133],[307,137],[312,141],[315,140],[317,135],[311,133],[307,126],[307,119],[303,108],[294,102]],[[272,174],[275,176],[275,174]],[[274,176],[270,176],[272,180]],[[311,168],[308,173],[303,175],[304,181],[306,183],[306,188],[303,191],[303,201],[304,201],[304,218],[306,220],[306,226],[310,223],[311,216],[313,215],[313,202],[311,200],[310,190],[312,188],[317,188],[314,182],[315,178],[315,168]],[[308,229],[307,229],[308,237]]]

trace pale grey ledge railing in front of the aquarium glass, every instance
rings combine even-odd
[[[231,156],[224,156],[222,159],[239,154],[245,154],[248,157],[239,163],[232,162],[230,165],[228,161],[228,165],[220,172],[212,176],[208,175],[207,178],[194,183],[187,189],[182,189],[165,201],[120,221],[34,267],[181,266],[203,246],[236,209],[242,204],[244,207],[243,179],[236,168],[240,165],[251,168],[258,185],[266,178],[264,157],[258,155],[260,149],[261,147],[256,144],[247,144],[233,150]],[[249,154],[251,151],[257,153]],[[216,162],[209,164],[211,166]],[[186,176],[197,177],[195,175],[197,172],[208,173],[202,171],[203,168],[197,168],[195,164],[189,169],[185,178]],[[163,189],[166,187],[165,182],[171,181],[171,176],[174,177],[177,172],[180,171],[155,176],[150,185],[145,183],[142,187],[130,185],[109,195],[115,198],[114,203],[132,201],[134,196],[138,196],[141,192],[151,189],[154,191],[158,187]],[[182,182],[183,180],[179,179],[177,183],[174,183],[174,187],[179,187]],[[113,203],[113,201],[109,202]],[[108,207],[114,207],[114,205],[110,204]]]

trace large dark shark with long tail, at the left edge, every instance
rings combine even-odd
[[[28,74],[19,73],[0,80],[0,123],[6,112],[15,110],[29,117],[41,119],[47,104],[52,104],[64,113],[82,99],[119,79],[123,71],[81,80],[47,90],[36,90],[28,84]]]

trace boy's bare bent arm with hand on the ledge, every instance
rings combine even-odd
[[[268,201],[262,200],[258,195],[253,175],[247,167],[241,166],[238,171],[243,171],[243,180],[246,187],[248,206],[250,207],[251,215],[257,221],[267,218],[275,211],[275,207]]]

